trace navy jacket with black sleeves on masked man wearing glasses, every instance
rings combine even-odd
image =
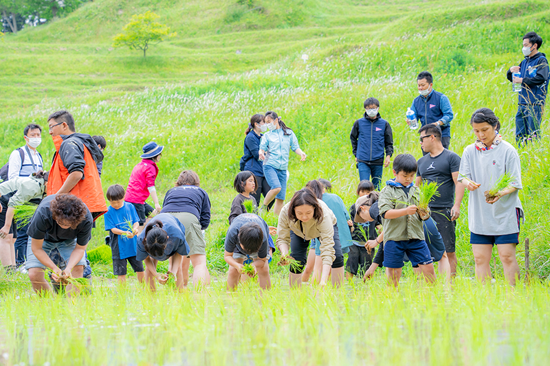
[[[373,165],[384,163],[384,150],[386,155],[393,154],[393,133],[391,126],[380,117],[375,119],[367,117],[366,113],[358,119],[351,128],[351,148],[357,161]]]

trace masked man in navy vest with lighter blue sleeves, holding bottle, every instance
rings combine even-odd
[[[441,144],[448,149],[451,141],[450,122],[454,115],[449,98],[439,91],[434,91],[433,82],[433,76],[428,71],[418,74],[417,87],[420,95],[412,101],[410,109],[415,112],[422,126],[434,124],[441,128]],[[410,124],[408,119],[407,124]]]

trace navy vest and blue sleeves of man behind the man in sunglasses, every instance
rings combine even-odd
[[[450,122],[454,115],[449,98],[443,93],[432,90],[426,98],[422,95],[417,96],[412,101],[412,110],[415,111],[422,126],[437,121],[443,122],[443,125],[439,126],[441,137],[451,137]]]

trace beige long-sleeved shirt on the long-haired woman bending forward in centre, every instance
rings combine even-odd
[[[276,246],[287,244],[290,247],[290,231],[292,230],[300,238],[311,240],[319,238],[322,264],[329,264],[336,260],[336,251],[334,250],[334,225],[336,225],[336,216],[334,216],[329,206],[323,201],[318,200],[322,207],[322,221],[317,222],[313,218],[307,222],[300,220],[291,221],[288,218],[288,209],[290,203],[287,203],[281,209],[277,227]]]

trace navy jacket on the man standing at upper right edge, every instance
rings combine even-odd
[[[525,57],[520,63],[521,91],[518,95],[519,104],[540,104],[544,106],[548,91],[548,60],[545,54],[539,52],[533,57]],[[512,80],[512,73],[508,69],[508,80]]]

